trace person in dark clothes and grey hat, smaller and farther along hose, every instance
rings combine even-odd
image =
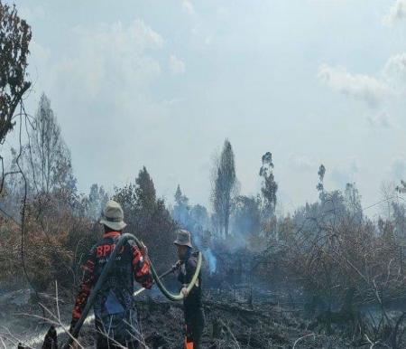
[[[202,307],[201,273],[188,294],[188,286],[195,274],[198,264],[198,252],[192,251],[190,232],[179,230],[174,244],[178,248],[180,265],[178,280],[182,284],[180,292],[183,294],[183,312],[186,324],[185,349],[200,349],[200,340],[205,326],[205,316]]]

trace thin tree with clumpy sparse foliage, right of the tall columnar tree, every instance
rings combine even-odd
[[[278,184],[273,177],[272,153],[267,152],[263,155],[263,165],[260,168],[259,175],[263,178],[261,193],[263,195],[263,213],[265,216],[272,216],[276,206],[276,192]]]

